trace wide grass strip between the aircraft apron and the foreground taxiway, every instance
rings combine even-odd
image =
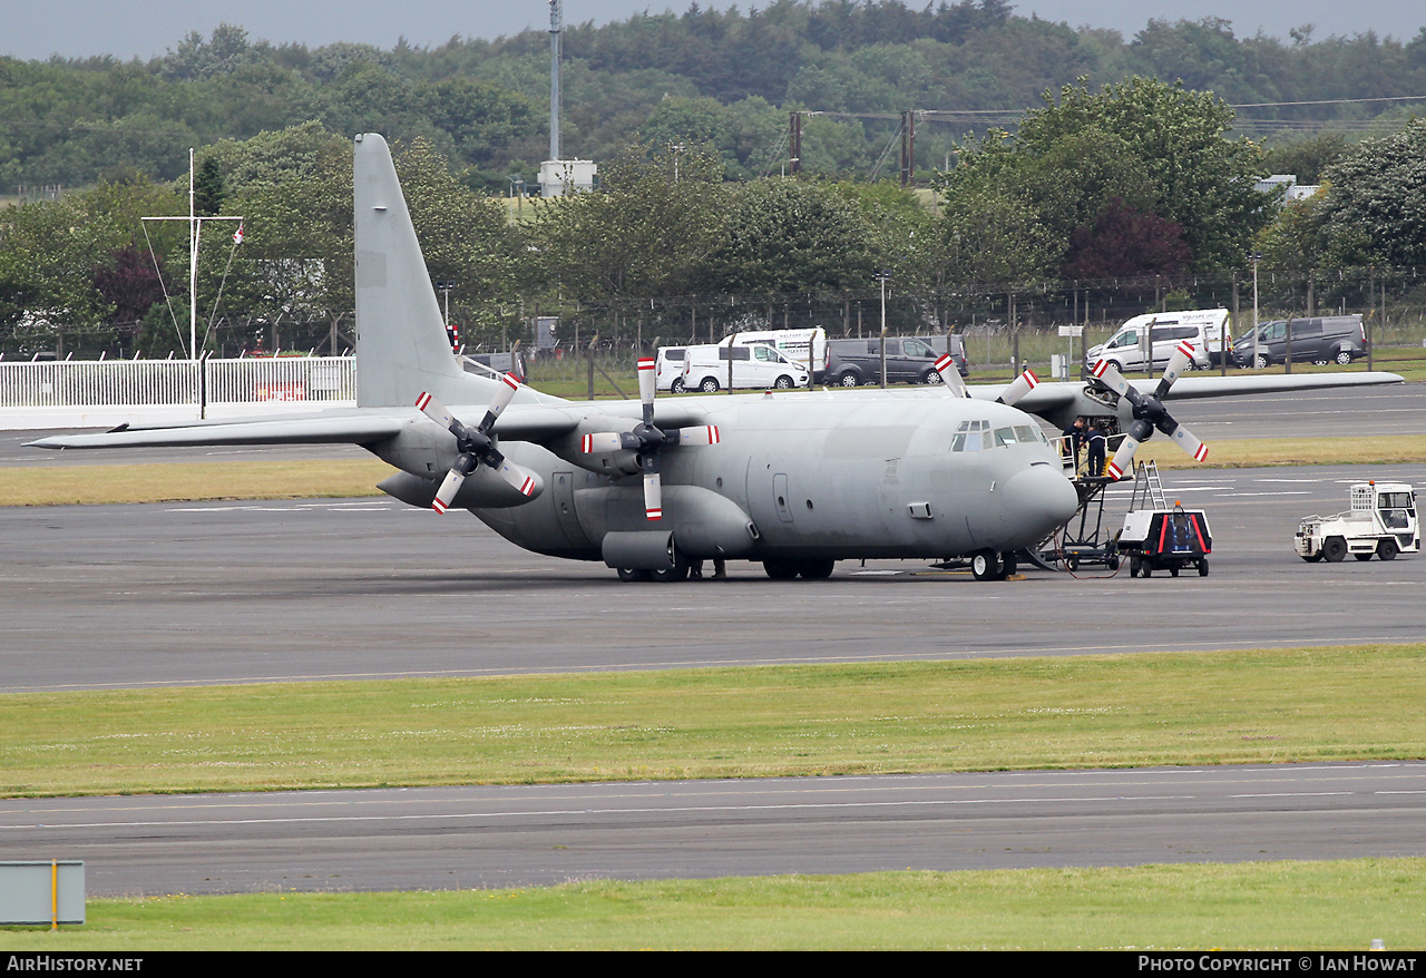
[[[1426,757],[1426,646],[0,697],[0,794]]]

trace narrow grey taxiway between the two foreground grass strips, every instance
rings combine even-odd
[[[1420,855],[1426,764],[0,801],[93,895]]]

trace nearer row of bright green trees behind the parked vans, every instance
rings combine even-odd
[[[525,336],[536,314],[559,315],[566,341],[870,329],[880,278],[897,329],[1082,321],[1117,304],[1224,302],[1252,254],[1265,282],[1281,275],[1293,295],[1310,282],[1323,308],[1415,287],[1426,123],[1318,147],[1323,192],[1286,205],[1253,188],[1268,155],[1232,125],[1221,98],[1179,83],[1081,80],[1014,134],[961,144],[934,194],[816,174],[729,182],[712,151],[643,143],[603,165],[593,192],[516,211],[462,182],[429,140],[398,143],[396,165],[472,345]],[[351,345],[351,158],[317,121],[198,151],[200,210],[244,228],[238,244],[232,222],[205,225],[205,349]],[[185,214],[187,182],[130,174],[0,211],[0,349],[187,352],[187,225],[141,220]]]

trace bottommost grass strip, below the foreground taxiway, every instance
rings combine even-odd
[[[90,900],[83,928],[6,928],[0,948],[1360,952],[1372,938],[1389,951],[1426,947],[1422,907],[1422,858],[907,871]]]

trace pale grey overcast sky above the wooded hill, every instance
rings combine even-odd
[[[924,0],[908,0],[921,6]],[[764,7],[766,3],[726,9]],[[91,57],[150,58],[175,47],[191,30],[212,33],[220,23],[240,24],[257,40],[302,41],[321,47],[361,41],[392,47],[399,37],[412,44],[441,44],[452,34],[498,37],[526,27],[549,27],[548,0],[4,0],[0,53],[19,58]],[[682,13],[689,0],[565,0],[565,21],[607,23],[640,10]],[[1112,27],[1125,40],[1144,24],[1161,20],[1222,17],[1239,37],[1286,37],[1288,29],[1316,24],[1315,37],[1376,31],[1409,41],[1426,26],[1426,9],[1409,0],[1024,0],[1015,13],[1038,14],[1071,26]]]

